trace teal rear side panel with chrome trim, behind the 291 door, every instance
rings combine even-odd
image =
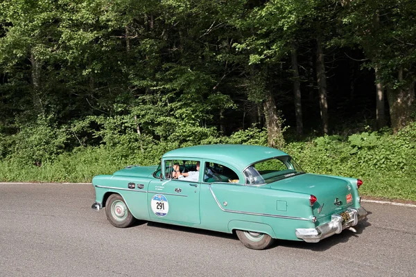
[[[211,190],[209,184],[202,184],[201,228],[227,233],[240,229],[298,240],[296,228],[315,227],[309,195],[220,183],[211,184]]]

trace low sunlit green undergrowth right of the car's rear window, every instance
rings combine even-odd
[[[306,172],[363,179],[361,193],[416,200],[416,123],[397,135],[390,132],[322,136],[289,143],[286,151]]]

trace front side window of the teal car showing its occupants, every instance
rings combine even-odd
[[[165,178],[199,181],[199,163],[193,160],[166,160],[164,161]]]

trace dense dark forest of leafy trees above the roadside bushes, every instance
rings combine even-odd
[[[2,0],[0,161],[318,136],[354,154],[404,132],[414,149],[415,22],[412,0]]]

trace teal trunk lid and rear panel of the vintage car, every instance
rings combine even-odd
[[[315,195],[318,200],[313,205],[313,213],[318,218],[338,213],[353,204],[352,200],[347,202],[347,195],[352,194],[352,184],[337,177],[305,173],[275,181],[270,188]],[[338,206],[335,204],[337,198]]]

